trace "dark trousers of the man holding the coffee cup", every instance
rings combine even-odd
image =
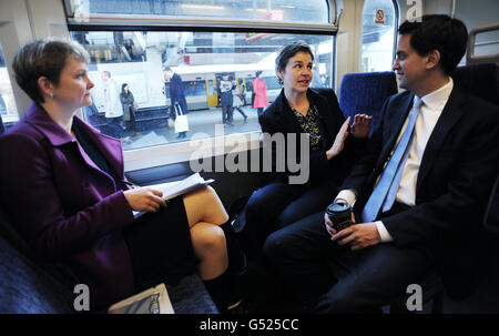
[[[380,243],[350,252],[337,245],[325,228],[324,212],[273,233],[264,258],[284,295],[302,312],[316,313],[379,312],[432,269],[418,248]]]

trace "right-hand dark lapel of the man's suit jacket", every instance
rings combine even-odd
[[[450,93],[440,118],[431,132],[428,143],[426,144],[425,152],[422,154],[421,164],[419,166],[419,173],[416,184],[416,195],[425,181],[428,172],[430,171],[435,160],[440,152],[440,147],[450,130],[458,122],[458,120],[465,114],[465,109],[461,109],[466,99],[462,92],[455,86]]]

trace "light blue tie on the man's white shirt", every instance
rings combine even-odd
[[[395,149],[394,155],[391,155],[390,161],[383,171],[378,184],[373,190],[369,200],[364,206],[364,223],[374,222],[381,206],[383,212],[386,212],[394,205],[395,196],[397,195],[398,187],[400,185],[401,172],[409,154],[408,149],[409,143],[413,139],[416,119],[419,114],[421,105],[422,101],[419,98],[416,98],[414,108],[410,111],[407,128],[404,131],[404,134],[397,144],[397,147]]]

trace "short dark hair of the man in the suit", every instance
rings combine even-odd
[[[465,23],[445,14],[424,16],[419,22],[406,21],[398,28],[398,33],[410,34],[410,47],[420,55],[438,50],[441,69],[447,74],[462,59],[468,41]]]

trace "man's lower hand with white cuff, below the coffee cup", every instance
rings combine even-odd
[[[338,242],[342,246],[348,245],[352,251],[359,251],[367,246],[381,243],[378,228],[373,222],[348,226],[334,234],[332,241]]]

